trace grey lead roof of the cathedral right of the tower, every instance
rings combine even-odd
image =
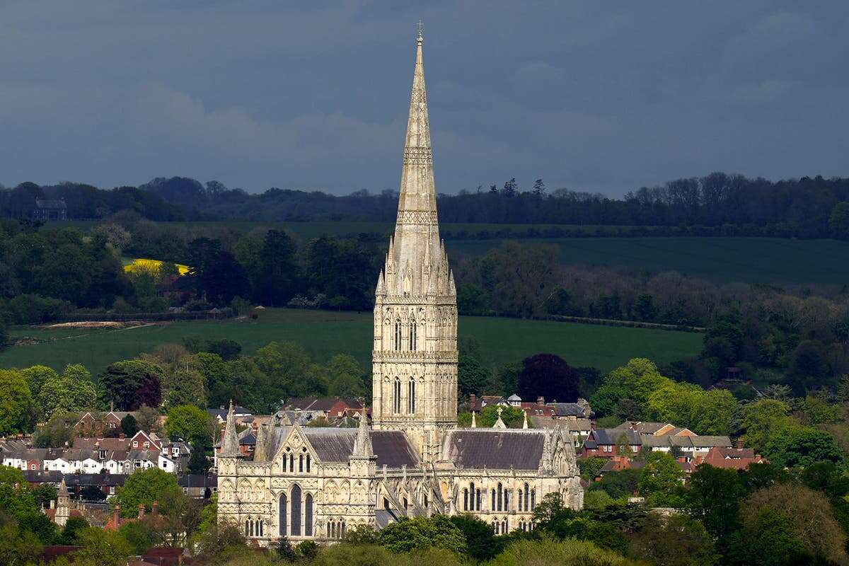
[[[545,434],[536,430],[462,429],[448,432],[443,457],[458,468],[537,469]]]

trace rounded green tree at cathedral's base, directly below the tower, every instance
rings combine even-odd
[[[445,515],[405,518],[380,530],[380,544],[391,552],[411,552],[430,546],[465,554],[468,546],[463,531]]]

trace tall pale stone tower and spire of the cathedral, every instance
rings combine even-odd
[[[457,425],[457,292],[436,219],[420,30],[395,235],[374,294],[374,429],[403,430],[431,462]]]

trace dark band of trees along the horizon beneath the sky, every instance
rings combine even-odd
[[[250,194],[221,182],[171,177],[111,190],[70,182],[51,187],[22,183],[0,190],[0,214],[25,217],[35,199],[45,197],[65,199],[73,218],[104,218],[130,209],[155,220],[393,221],[397,208],[391,190],[334,196],[269,188]],[[842,177],[773,182],[717,172],[638,188],[622,199],[565,188],[549,192],[542,179],[523,190],[510,179],[501,188],[478,187],[438,199],[443,222],[678,227],[683,235],[849,235],[849,204],[836,208],[849,199],[849,178]]]

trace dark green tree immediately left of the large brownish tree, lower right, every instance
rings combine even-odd
[[[735,470],[702,464],[690,475],[687,508],[711,535],[722,537],[739,524],[739,502],[745,490]]]

